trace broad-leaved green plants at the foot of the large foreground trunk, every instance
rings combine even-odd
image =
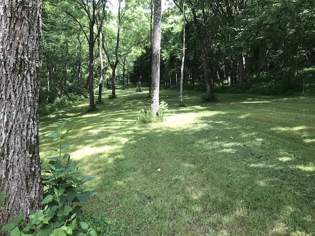
[[[44,208],[30,212],[29,223],[23,230],[19,229],[19,226],[23,225],[23,218],[25,217],[21,215],[4,225],[0,232],[11,231],[11,235],[14,236],[97,236],[109,235],[103,234],[103,232],[123,232],[122,228],[115,230],[110,220],[104,221],[102,225],[98,226],[99,234],[93,229],[95,224],[91,224],[90,221],[84,222],[85,218],[81,216],[81,205],[79,204],[87,203],[88,199],[96,193],[90,188],[83,189],[82,184],[93,180],[94,177],[81,177],[83,170],[78,168],[75,161],[70,160],[69,154],[63,154],[63,150],[69,147],[68,144],[63,145],[63,138],[71,130],[67,129],[63,132],[65,123],[63,122],[58,126],[56,132],[46,132],[50,133],[49,138],[58,141],[59,148],[53,149],[58,155],[48,158],[47,164],[42,161],[44,191],[41,204],[44,205]],[[41,142],[45,141],[47,140]],[[4,197],[5,192],[1,192],[0,207]],[[89,223],[91,226],[86,228]]]

